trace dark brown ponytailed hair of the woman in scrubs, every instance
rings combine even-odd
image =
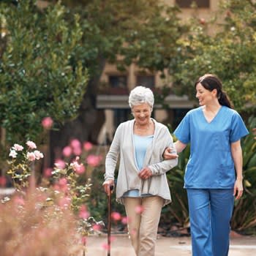
[[[227,93],[222,90],[222,81],[217,77],[217,75],[206,74],[198,78],[195,82],[195,87],[197,83],[200,83],[206,90],[213,91],[217,90],[217,98],[220,105],[226,106],[228,108],[233,108],[232,102],[230,102]]]

